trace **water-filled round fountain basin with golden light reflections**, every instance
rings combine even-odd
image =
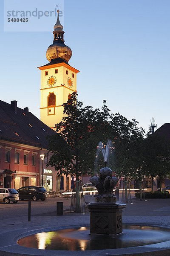
[[[99,253],[95,253],[95,255],[123,255],[120,253],[121,251],[123,253],[123,250],[126,250],[127,253],[130,249],[137,249],[139,251],[145,249],[144,251],[146,253],[148,246],[161,248],[162,243],[170,241],[170,229],[168,228],[152,227],[148,225],[125,225],[123,230],[122,234],[116,236],[101,236],[91,235],[88,227],[71,227],[26,236],[19,239],[17,244],[20,245],[20,248],[36,248],[40,249],[39,251],[41,252],[48,252],[49,250],[60,251],[60,254],[50,255],[62,255],[61,252],[64,253],[66,251],[75,251],[74,255],[78,252],[80,253],[80,251],[82,253],[87,252],[87,255],[91,255],[89,254],[91,250],[95,250],[95,252]],[[77,250],[78,252],[76,252]],[[101,254],[103,250],[107,250],[108,253]],[[115,254],[118,252],[120,254]],[[156,254],[154,253],[153,255]]]

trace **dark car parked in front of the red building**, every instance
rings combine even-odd
[[[32,199],[37,201],[41,199],[45,201],[47,198],[47,190],[43,186],[24,186],[20,189],[17,189],[19,193],[20,200]]]

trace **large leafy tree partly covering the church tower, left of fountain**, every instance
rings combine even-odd
[[[94,172],[96,146],[99,140],[110,139],[112,131],[105,101],[102,111],[82,105],[77,93],[72,93],[63,104],[64,116],[55,125],[57,134],[49,137],[48,146],[48,154],[52,153],[48,166],[54,166],[57,175],[76,176],[76,212],[80,212],[79,176]]]

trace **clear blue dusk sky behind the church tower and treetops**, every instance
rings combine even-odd
[[[48,63],[56,17],[33,25],[30,18],[32,32],[18,32],[22,24],[7,22],[10,1],[11,8],[20,6],[20,0],[0,1],[0,100],[17,100],[40,118],[37,67]],[[28,10],[29,1],[22,2]],[[170,122],[170,0],[34,0],[32,9],[47,9],[48,2],[62,6],[65,44],[73,52],[69,64],[80,70],[84,105],[101,108],[105,99],[112,113],[136,119],[145,131],[153,117],[158,128]]]

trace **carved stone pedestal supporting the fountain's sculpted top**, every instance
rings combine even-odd
[[[122,202],[89,203],[90,233],[117,235],[122,233],[122,211],[126,207]]]

